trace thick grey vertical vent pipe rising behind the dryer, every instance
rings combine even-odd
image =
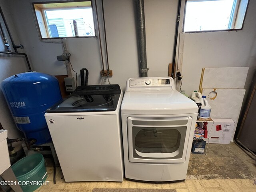
[[[136,0],[137,8],[137,30],[138,43],[140,52],[140,77],[148,76],[147,68],[147,54],[146,54],[146,30],[145,30],[145,14],[144,14],[144,0]]]

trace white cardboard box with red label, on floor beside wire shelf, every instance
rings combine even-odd
[[[212,127],[212,122],[208,122],[207,126],[209,143],[229,144],[235,125],[234,121],[232,119],[217,118],[213,120]]]

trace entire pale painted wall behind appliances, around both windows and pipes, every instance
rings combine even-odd
[[[15,26],[12,31],[24,45],[24,52],[28,54],[33,69],[52,75],[67,74],[64,64],[56,60],[56,56],[62,54],[61,45],[44,43],[38,38],[31,2],[40,1],[46,0],[8,2],[2,0],[1,2],[8,3],[10,19],[12,19],[10,23]],[[101,14],[101,1],[97,0],[97,2]],[[148,76],[168,74],[168,64],[172,62],[177,4],[178,0],[144,0],[147,62],[150,69]],[[109,64],[110,70],[114,72],[110,81],[113,84],[120,84],[124,90],[128,78],[139,76],[135,1],[104,0],[104,9]],[[248,88],[256,67],[255,9],[256,1],[251,0],[241,31],[185,34],[182,89],[188,94],[198,90],[203,67],[230,66],[250,66],[246,82]],[[100,26],[102,26],[102,18],[100,18]],[[102,41],[104,42],[103,37]],[[79,72],[81,68],[88,68],[88,83],[100,84],[102,64],[98,39],[69,38],[66,43],[72,54],[71,62],[74,70]]]

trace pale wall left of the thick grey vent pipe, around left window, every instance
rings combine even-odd
[[[46,2],[46,0],[41,1]],[[40,2],[40,0],[31,2]],[[39,40],[31,2],[29,0],[9,2],[24,51],[30,56],[34,70],[52,75],[67,74],[64,64],[56,59],[57,55],[62,54],[61,44],[44,43]],[[97,6],[100,12],[101,1],[98,1]],[[104,0],[104,9],[109,66],[114,73],[110,81],[112,84],[120,84],[124,90],[128,78],[139,76],[134,1]],[[102,23],[101,20],[100,23]],[[101,31],[104,45],[103,34],[104,32]],[[100,84],[102,63],[98,38],[68,38],[66,44],[71,53],[74,70],[80,73],[81,68],[87,68],[88,84]],[[80,76],[78,76],[78,82],[80,84]]]

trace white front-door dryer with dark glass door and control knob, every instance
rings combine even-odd
[[[121,105],[125,177],[185,180],[197,113],[171,77],[128,79]]]

